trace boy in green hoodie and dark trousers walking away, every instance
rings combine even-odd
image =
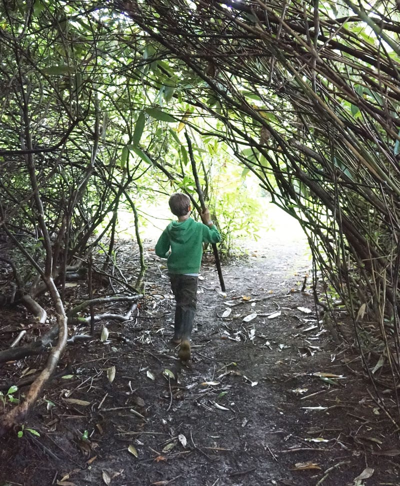
[[[186,194],[172,194],[169,208],[177,221],[164,229],[155,245],[155,254],[167,258],[168,275],[175,297],[175,319],[172,343],[179,344],[178,356],[190,359],[190,335],[197,304],[197,282],[203,253],[202,244],[218,243],[221,236],[210,221],[209,211],[201,214],[201,221],[190,218],[190,199]]]

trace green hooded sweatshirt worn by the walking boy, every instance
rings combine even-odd
[[[192,218],[172,221],[158,238],[155,254],[167,258],[168,273],[197,274],[200,270],[203,242],[219,241],[221,235],[214,225],[210,228]]]

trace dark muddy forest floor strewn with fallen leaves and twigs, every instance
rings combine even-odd
[[[311,266],[304,241],[265,243],[223,266],[226,294],[204,258],[184,366],[169,345],[165,268],[146,241],[138,315],[68,346],[23,436],[1,441],[0,485],[400,485],[398,432],[356,353],[318,324],[309,287],[301,291]],[[132,246],[118,250],[125,272],[137,263]],[[84,287],[70,289],[74,299]],[[3,313],[2,326],[6,317],[20,327],[20,312]],[[1,382],[44,361],[6,363]]]

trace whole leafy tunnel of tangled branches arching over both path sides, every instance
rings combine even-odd
[[[137,300],[140,205],[195,196],[190,159],[210,207],[211,163],[229,159],[299,221],[319,309],[333,323],[347,311],[351,344],[381,356],[397,388],[400,11],[371,5],[2,2],[0,299],[43,319],[36,298],[48,291],[58,336],[3,432],[63,352],[68,272],[90,271],[101,249],[107,274],[118,212],[130,211],[140,269],[125,290]]]

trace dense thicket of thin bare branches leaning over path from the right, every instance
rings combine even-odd
[[[119,8],[153,46],[153,60],[168,60],[166,78],[176,84],[171,73],[181,73],[185,101],[209,115],[205,133],[228,143],[300,221],[355,336],[357,315],[374,323],[374,351],[396,386],[400,16],[394,1],[344,3],[339,12],[334,2],[262,0]],[[194,118],[187,123],[204,132]],[[370,351],[359,336],[358,345]]]

